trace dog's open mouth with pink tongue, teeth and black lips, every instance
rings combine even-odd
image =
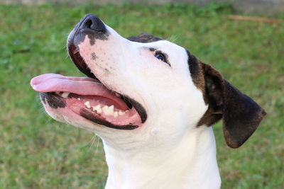
[[[68,52],[77,68],[87,77],[60,74],[36,76],[31,80],[31,85],[40,92],[43,103],[47,102],[51,108],[69,108],[87,120],[119,130],[133,130],[146,121],[143,106],[104,86],[92,74],[74,43],[69,42]]]

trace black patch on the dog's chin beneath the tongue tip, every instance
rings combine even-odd
[[[40,93],[40,99],[44,104],[48,103],[51,108],[65,108],[65,101],[53,93]]]

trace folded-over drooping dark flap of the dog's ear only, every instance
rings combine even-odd
[[[257,129],[266,112],[249,96],[224,80],[223,133],[226,144],[238,148]]]

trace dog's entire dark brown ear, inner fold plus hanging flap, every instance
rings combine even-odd
[[[238,148],[253,134],[266,112],[249,96],[224,80],[209,64],[203,64],[205,96],[209,112],[223,120],[226,144]],[[216,121],[215,121],[216,122]]]

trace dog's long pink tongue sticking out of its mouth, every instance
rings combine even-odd
[[[93,95],[115,98],[107,88],[97,80],[89,77],[62,76],[60,74],[43,74],[31,79],[33,90],[38,92],[70,92],[79,95]]]

